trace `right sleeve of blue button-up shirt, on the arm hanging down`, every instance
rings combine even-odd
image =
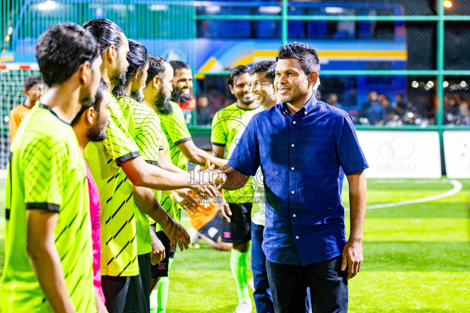
[[[336,151],[338,163],[346,175],[352,175],[369,167],[349,114],[342,115],[337,124]]]

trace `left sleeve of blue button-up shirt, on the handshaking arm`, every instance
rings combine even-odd
[[[253,117],[243,131],[227,165],[244,175],[255,176],[259,167],[259,144],[256,133],[256,117]]]

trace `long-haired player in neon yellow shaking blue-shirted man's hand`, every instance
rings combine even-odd
[[[100,44],[103,80],[110,90],[115,85],[123,84],[128,66],[126,54],[129,52],[124,32],[115,23],[105,19],[89,21],[84,26],[94,34]],[[109,109],[111,122],[106,139],[102,143],[88,144],[84,156],[104,204],[101,220],[101,264],[106,306],[110,312],[123,312],[130,277],[139,274],[138,261],[136,262],[136,217],[132,203],[133,185],[173,190],[188,187],[188,184],[196,180],[188,173],[170,173],[143,160],[114,97],[111,98]],[[215,192],[213,184],[201,183],[190,187],[205,196],[212,196]],[[145,213],[152,215],[155,211]],[[188,234],[179,224],[165,220],[162,221],[162,227],[172,241],[178,242],[181,250],[187,247]]]

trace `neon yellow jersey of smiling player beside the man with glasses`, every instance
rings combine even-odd
[[[224,157],[227,159],[230,146],[234,142],[238,130],[242,127],[242,120],[245,115],[249,115],[252,110],[244,110],[236,105],[236,102],[217,111],[212,119],[211,144],[225,146]],[[245,128],[246,125],[243,125]],[[234,191],[224,190],[224,198],[228,203],[251,203],[253,201],[254,190],[251,177],[240,189]]]

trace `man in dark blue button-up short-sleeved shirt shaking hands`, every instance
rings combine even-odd
[[[362,265],[367,161],[351,116],[312,94],[316,49],[279,49],[274,86],[282,103],[255,114],[227,165],[226,190],[241,188],[261,166],[266,198],[263,252],[276,313],[347,312],[347,281]],[[341,190],[349,181],[351,235]]]

